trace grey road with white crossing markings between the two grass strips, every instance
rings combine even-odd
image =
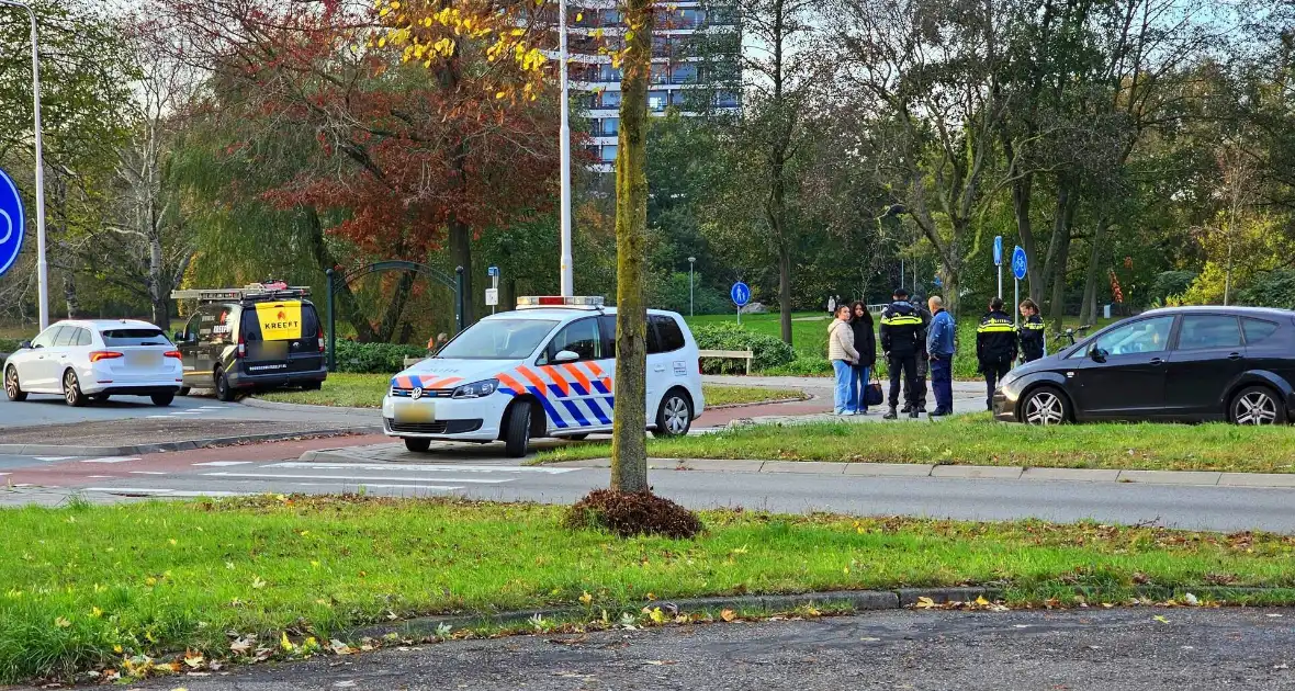
[[[545,443],[550,444],[550,443]],[[316,448],[326,448],[319,440]],[[337,445],[333,443],[333,445]],[[350,458],[300,461],[302,450],[254,445],[198,452],[93,458],[0,458],[0,505],[58,503],[80,493],[92,501],[243,493],[365,492],[388,496],[465,496],[499,501],[571,503],[605,487],[605,468],[519,467],[499,445],[444,445],[430,454],[382,444]],[[776,512],[921,515],[967,520],[1037,518],[1053,521],[1155,523],[1186,529],[1263,529],[1295,533],[1295,489],[987,480],[864,477],[654,470],[654,489],[694,509]]]

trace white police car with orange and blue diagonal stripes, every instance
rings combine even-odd
[[[412,452],[431,440],[504,441],[522,457],[532,437],[611,430],[616,311],[602,298],[519,298],[455,336],[435,357],[391,378],[388,436]],[[673,312],[648,312],[648,428],[686,435],[702,413],[697,342]]]

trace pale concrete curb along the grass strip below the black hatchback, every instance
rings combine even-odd
[[[1221,472],[1169,470],[1041,468],[936,463],[861,463],[835,461],[765,461],[721,458],[649,458],[650,470],[844,475],[851,477],[935,477],[958,480],[1023,480],[1045,483],[1120,483],[1248,489],[1295,489],[1295,472]],[[543,463],[553,467],[610,467],[609,458]]]

